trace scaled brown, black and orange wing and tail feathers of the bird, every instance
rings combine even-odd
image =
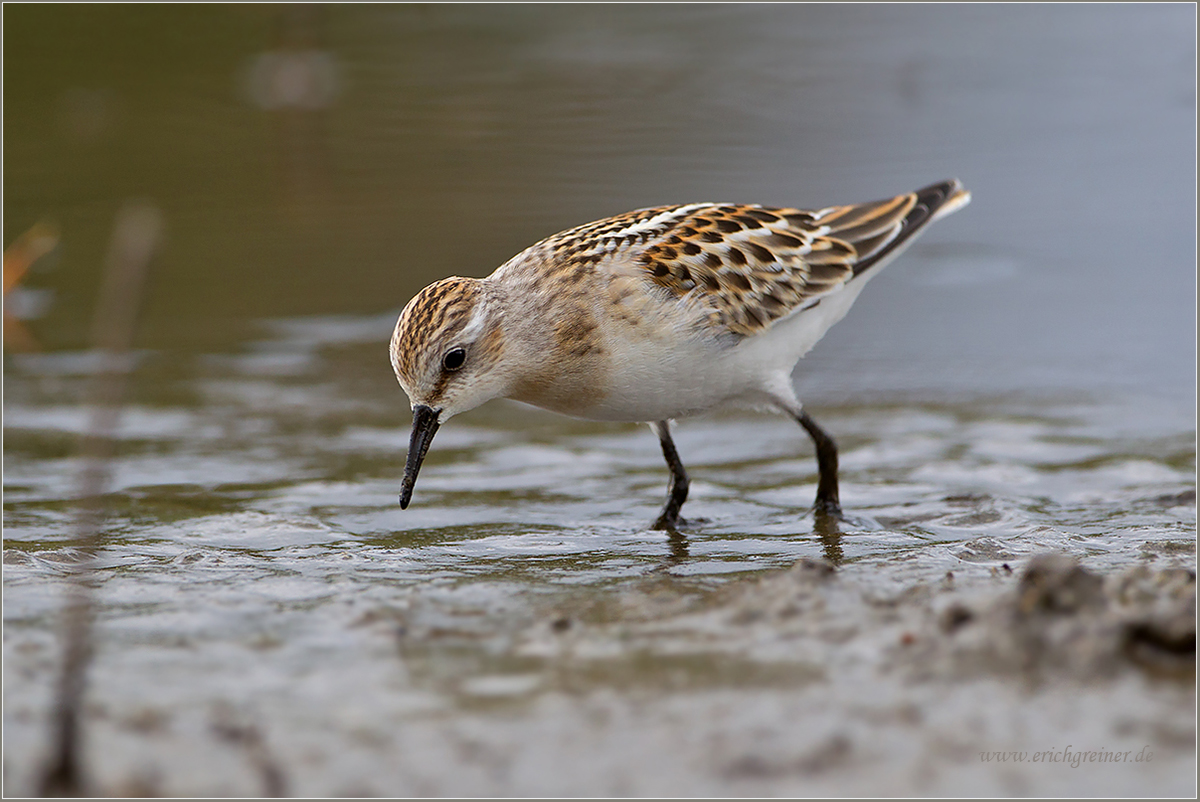
[[[742,337],[863,275],[960,196],[965,191],[949,180],[886,200],[818,210],[656,207],[578,226],[529,251],[544,255],[538,264],[546,277],[570,280],[631,264],[660,292],[701,310],[707,330]]]

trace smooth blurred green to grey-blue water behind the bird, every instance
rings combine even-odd
[[[113,215],[169,238],[142,342],[380,313],[556,231],[691,200],[820,207],[948,175],[970,211],[817,360],[925,382],[1194,384],[1192,10],[16,5],[8,244],[61,247],[35,324],[79,348]],[[844,331],[845,329],[845,331]],[[385,337],[382,334],[380,337]],[[932,370],[930,370],[932,369]],[[1082,372],[1085,376],[1080,376]],[[884,384],[886,378],[882,378]]]

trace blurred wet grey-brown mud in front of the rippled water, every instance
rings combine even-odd
[[[1046,552],[890,585],[805,558],[514,599],[500,632],[428,595],[361,605],[347,626],[371,680],[350,686],[331,659],[172,707],[110,695],[102,656],[86,754],[106,795],[1187,796],[1193,558]],[[48,668],[6,640],[8,671]],[[8,711],[12,795],[32,702]]]

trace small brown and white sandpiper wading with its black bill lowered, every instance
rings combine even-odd
[[[671,468],[654,528],[668,531],[688,498],[668,421],[727,403],[775,407],[816,444],[815,513],[840,516],[838,448],[800,407],[792,370],[868,279],[970,199],[949,180],[811,211],[638,209],[544,239],[487,279],[430,285],[391,337],[391,365],[413,407],[401,508],[438,427],[504,397],[649,423]]]

